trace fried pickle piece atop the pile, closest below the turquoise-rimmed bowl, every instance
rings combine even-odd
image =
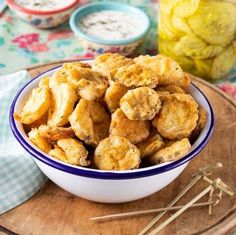
[[[130,64],[134,64],[134,61],[123,55],[118,53],[105,53],[95,58],[92,69],[111,80],[120,67]]]

